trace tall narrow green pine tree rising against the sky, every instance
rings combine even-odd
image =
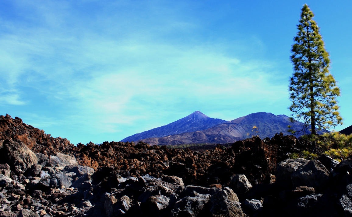
[[[313,17],[308,5],[303,5],[291,50],[294,73],[289,85],[291,121],[301,121],[301,131],[306,134],[310,131],[311,138],[317,135],[317,130],[326,131],[342,124],[336,101],[340,89],[329,73],[329,53]],[[289,131],[298,133],[294,129]]]

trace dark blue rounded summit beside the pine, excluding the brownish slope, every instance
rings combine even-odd
[[[244,128],[246,134],[249,133],[249,137],[252,133],[253,126],[258,127],[258,135],[260,138],[273,137],[276,133],[282,132],[284,135],[290,135],[288,132],[288,125],[291,125],[293,129],[300,130],[300,122],[291,123],[290,118],[284,114],[275,115],[267,112],[252,113],[247,116],[236,118],[229,121],[230,123],[236,123]],[[296,137],[301,136],[296,135]],[[248,137],[248,136],[247,136]],[[246,135],[243,138],[247,138]]]

